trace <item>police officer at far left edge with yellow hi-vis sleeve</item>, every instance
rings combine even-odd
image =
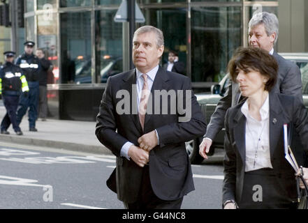
[[[17,123],[16,110],[22,92],[29,91],[26,77],[22,69],[13,64],[15,52],[3,53],[6,63],[0,68],[0,94],[2,93],[3,104],[6,107],[6,116],[1,121],[1,134],[10,134],[8,127],[13,125],[17,135],[22,135],[19,123]]]

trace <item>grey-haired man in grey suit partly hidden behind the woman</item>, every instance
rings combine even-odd
[[[286,61],[282,56],[274,52],[274,44],[278,38],[279,22],[276,15],[272,13],[256,13],[249,22],[249,45],[259,47],[269,52],[276,59],[279,70],[276,86],[272,91],[294,95],[302,101],[302,79],[300,69],[295,63]],[[244,97],[240,95],[238,84],[230,81],[228,89],[211,116],[211,121],[207,125],[206,134],[200,144],[199,153],[207,158],[206,153],[210,151],[212,140],[223,128],[223,121],[229,107],[237,105]]]

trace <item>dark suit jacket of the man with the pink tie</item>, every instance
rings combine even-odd
[[[110,176],[108,185],[110,187],[116,185],[116,190],[112,189],[117,192],[119,200],[127,203],[136,201],[140,190],[142,168],[133,160],[121,157],[120,151],[127,141],[138,146],[138,138],[142,134],[156,129],[160,144],[149,153],[149,177],[152,189],[160,199],[179,199],[194,190],[191,165],[184,142],[203,135],[206,128],[205,118],[196,96],[192,93],[190,121],[179,123],[178,118],[181,114],[178,110],[176,114],[170,112],[146,114],[145,131],[142,132],[138,114],[132,114],[132,110],[130,114],[122,115],[116,112],[117,102],[122,100],[116,97],[117,92],[126,90],[135,99],[136,93],[132,92],[133,84],[136,84],[135,70],[110,77],[97,116],[96,137],[117,156],[117,168]],[[159,67],[151,93],[154,95],[154,90],[163,89],[191,90],[191,82],[188,77]],[[154,103],[154,100],[152,102]],[[161,101],[160,108],[162,109]]]

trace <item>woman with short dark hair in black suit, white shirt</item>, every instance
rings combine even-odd
[[[284,123],[308,150],[308,114],[298,98],[271,92],[278,65],[263,49],[237,49],[228,64],[244,102],[225,118],[223,208],[293,208],[295,172],[284,157]]]

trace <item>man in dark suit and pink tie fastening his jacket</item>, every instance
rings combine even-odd
[[[190,79],[159,66],[163,48],[159,29],[135,31],[135,69],[109,77],[97,116],[96,137],[117,156],[107,185],[126,208],[180,208],[194,190],[184,142],[203,135],[205,118]]]

